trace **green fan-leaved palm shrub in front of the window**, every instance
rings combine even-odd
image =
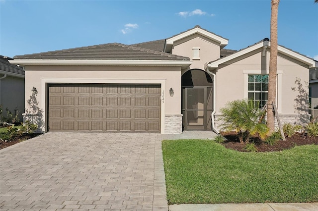
[[[249,142],[252,135],[258,133],[261,139],[266,138],[268,127],[259,123],[258,119],[262,115],[253,101],[236,100],[228,102],[220,109],[221,129],[224,131],[236,131],[239,142]]]

